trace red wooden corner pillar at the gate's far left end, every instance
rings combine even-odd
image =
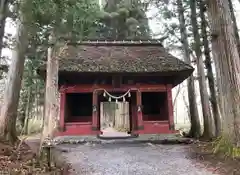
[[[65,131],[66,92],[60,89],[60,130]]]

